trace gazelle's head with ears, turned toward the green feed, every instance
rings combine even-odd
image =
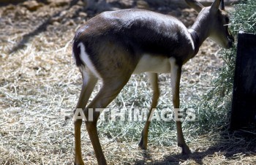
[[[202,4],[195,0],[186,1],[189,6],[199,12],[197,20],[193,25],[194,28],[199,28],[199,31],[208,29],[205,34],[206,37],[210,37],[221,47],[232,47],[234,39],[228,29],[229,17],[225,11],[224,0],[215,0],[214,3],[211,4],[211,7],[203,7]],[[200,25],[200,27],[198,27],[198,25]]]

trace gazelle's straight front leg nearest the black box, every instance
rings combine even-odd
[[[182,65],[176,64],[176,61],[174,59],[170,59],[170,65],[171,65],[170,78],[171,78],[171,87],[173,92],[173,107],[174,109],[178,109],[180,107],[179,88],[180,88]],[[189,150],[189,147],[187,146],[184,140],[180,120],[176,120],[176,127],[177,127],[178,146],[181,147],[182,154],[191,153],[191,151]]]

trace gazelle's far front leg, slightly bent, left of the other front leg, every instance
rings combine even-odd
[[[143,150],[147,149],[148,145],[148,128],[150,125],[151,117],[154,112],[154,108],[157,107],[157,100],[159,98],[159,86],[158,86],[158,77],[157,73],[148,73],[148,78],[151,83],[151,88],[153,89],[153,98],[151,102],[151,108],[148,113],[148,118],[146,120],[145,126],[143,128],[143,131],[141,132],[141,139],[139,142],[139,147]]]

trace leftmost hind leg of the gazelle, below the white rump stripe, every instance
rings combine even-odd
[[[97,77],[94,77],[94,75],[90,72],[85,72],[85,70],[81,70],[81,72],[83,75],[83,86],[80,92],[76,109],[81,108],[83,110],[86,107],[86,104],[91,96],[91,92],[93,91],[97,83]],[[83,164],[80,139],[81,125],[81,119],[75,120],[75,164]]]

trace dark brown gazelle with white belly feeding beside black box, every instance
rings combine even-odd
[[[200,12],[192,28],[187,29],[181,21],[170,15],[162,15],[144,9],[124,9],[103,12],[80,27],[73,41],[73,55],[83,77],[82,91],[77,108],[82,108],[86,118],[89,108],[94,110],[94,120],[86,121],[86,128],[94,147],[98,164],[107,164],[97,135],[96,108],[105,108],[116,98],[132,74],[148,72],[153,89],[153,99],[148,113],[151,116],[159,98],[158,73],[170,73],[173,106],[179,108],[179,85],[181,67],[193,58],[207,37],[219,45],[230,48],[233,37],[228,31],[229,19],[221,0],[211,7],[203,7],[195,0],[186,0]],[[219,5],[221,9],[219,9]],[[86,107],[91,92],[102,80],[102,88]],[[80,146],[82,120],[75,120],[75,164],[83,164]],[[147,148],[148,127],[142,131],[139,146]],[[182,153],[189,154],[181,129],[176,121],[178,146]]]

